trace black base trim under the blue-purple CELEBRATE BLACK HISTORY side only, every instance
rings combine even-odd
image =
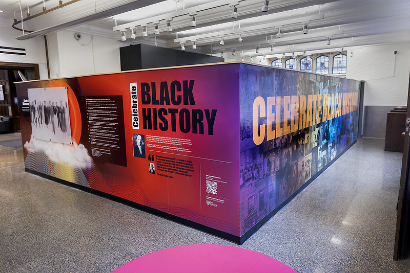
[[[296,195],[298,195],[301,191],[303,191],[306,187],[308,187],[309,184],[311,184],[313,182],[313,180],[316,179],[316,177],[318,177],[324,170],[326,170],[329,166],[331,166],[342,154],[344,154],[348,149],[350,149],[353,145],[355,145],[356,142],[357,141],[353,142],[346,149],[344,149],[344,151],[342,151],[335,158],[333,158],[333,160],[329,164],[327,164],[320,171],[318,171],[314,176],[312,176],[308,181],[306,181],[306,183],[303,184],[299,189],[297,189],[291,196],[289,196],[283,202],[281,202],[278,207],[276,207],[267,216],[263,217],[259,222],[257,222],[254,226],[252,226],[249,231],[245,232],[240,237],[239,244],[242,244],[246,240],[248,240],[248,238],[251,237],[252,234],[257,232],[260,229],[260,227],[262,227],[262,225],[264,225],[266,222],[268,222],[276,213],[278,213],[284,206],[286,206],[286,204],[288,204],[293,198],[295,198]]]

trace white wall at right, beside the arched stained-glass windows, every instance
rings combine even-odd
[[[406,105],[409,73],[410,43],[347,50],[346,78],[366,81],[364,105]]]

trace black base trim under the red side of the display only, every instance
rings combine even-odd
[[[184,218],[181,218],[181,217],[178,217],[178,216],[166,213],[166,212],[162,212],[162,211],[159,211],[159,210],[144,206],[142,204],[139,204],[139,203],[136,203],[136,202],[133,202],[133,201],[130,201],[130,200],[127,200],[127,199],[112,195],[112,194],[108,194],[108,193],[97,191],[97,190],[94,190],[94,189],[91,189],[91,188],[88,188],[88,187],[77,185],[77,184],[71,183],[69,181],[66,181],[66,180],[63,180],[63,179],[60,179],[60,178],[56,178],[56,177],[53,177],[53,176],[50,176],[50,175],[47,175],[47,174],[44,174],[44,173],[33,171],[33,170],[30,170],[30,169],[27,169],[27,168],[25,168],[25,170],[26,170],[26,172],[41,176],[43,178],[55,181],[57,183],[60,183],[60,184],[63,184],[63,185],[66,185],[66,186],[69,186],[69,187],[72,187],[72,188],[76,188],[76,189],[79,189],[79,190],[83,190],[85,192],[95,194],[95,195],[98,195],[98,196],[101,196],[101,197],[104,197],[104,198],[107,198],[107,199],[111,199],[111,200],[114,200],[116,202],[126,204],[127,206],[130,206],[134,209],[138,209],[140,211],[148,212],[148,213],[154,214],[156,216],[171,220],[173,222],[177,222],[177,223],[192,227],[193,229],[196,229],[196,230],[199,230],[199,231],[214,235],[214,236],[222,238],[224,240],[228,240],[228,241],[231,241],[231,242],[236,243],[236,244],[242,244],[240,242],[240,237],[239,236],[235,236],[235,235],[232,235],[232,234],[229,234],[229,233],[226,233],[226,232],[222,232],[222,231],[213,229],[212,227],[193,222],[191,220],[187,220],[187,219],[184,219]]]

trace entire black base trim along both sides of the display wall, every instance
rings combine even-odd
[[[356,141],[353,142],[351,145],[349,145],[343,152],[341,152],[335,158],[333,158],[333,160],[329,164],[327,164],[324,168],[322,168],[320,171],[318,171],[314,176],[312,176],[308,181],[306,181],[305,184],[303,184],[298,190],[296,190],[291,196],[289,196],[288,198],[286,198],[286,200],[281,202],[280,205],[278,207],[276,207],[276,209],[271,211],[267,216],[263,217],[253,227],[251,227],[251,229],[249,231],[245,232],[240,237],[229,234],[229,233],[226,233],[226,232],[222,232],[222,231],[219,231],[219,230],[216,230],[216,229],[213,229],[212,227],[209,227],[209,226],[206,226],[206,225],[203,225],[203,224],[199,224],[199,223],[193,222],[191,220],[187,220],[187,219],[184,219],[184,218],[172,215],[172,214],[168,214],[166,212],[162,212],[162,211],[159,211],[159,210],[144,206],[142,204],[139,204],[139,203],[136,203],[136,202],[133,202],[133,201],[130,201],[130,200],[127,200],[127,199],[112,195],[112,194],[108,194],[108,193],[105,193],[105,192],[100,192],[100,191],[97,191],[97,190],[94,190],[94,189],[91,189],[91,188],[87,188],[87,187],[84,187],[84,186],[81,186],[81,185],[77,185],[77,184],[68,182],[66,180],[56,178],[56,177],[53,177],[53,176],[50,176],[50,175],[47,175],[47,174],[44,174],[44,173],[39,173],[37,171],[33,171],[33,170],[30,170],[30,169],[27,169],[27,168],[25,168],[25,170],[26,170],[26,172],[29,172],[29,173],[44,177],[46,179],[50,179],[50,180],[55,181],[57,183],[64,184],[66,186],[73,187],[73,188],[76,188],[76,189],[80,189],[80,190],[83,190],[85,192],[92,193],[92,194],[95,194],[95,195],[98,195],[98,196],[101,196],[101,197],[105,197],[105,198],[114,200],[116,202],[126,204],[127,206],[130,206],[132,208],[135,208],[135,209],[138,209],[138,210],[141,210],[141,211],[144,211],[144,212],[148,212],[148,213],[157,215],[159,217],[171,220],[173,222],[177,222],[177,223],[192,227],[193,229],[196,229],[196,230],[211,234],[213,236],[222,238],[224,240],[228,240],[228,241],[231,241],[231,242],[236,243],[236,244],[243,244],[246,240],[249,239],[249,237],[251,237],[256,231],[258,231],[263,224],[265,224],[267,221],[269,221],[269,219],[271,219],[277,212],[279,212],[284,206],[286,206],[286,204],[289,203],[296,195],[298,195],[302,190],[304,190],[307,186],[309,186],[309,184],[311,184],[312,181],[316,179],[316,177],[318,177],[324,170],[326,170],[329,166],[331,166],[342,154],[344,154],[348,149],[350,149],[355,143],[356,143]]]

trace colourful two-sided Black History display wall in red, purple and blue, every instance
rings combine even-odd
[[[239,244],[357,139],[358,81],[275,67],[235,62],[16,86],[26,171]],[[32,137],[34,126],[62,129],[61,110],[46,102],[33,113],[28,98],[28,89],[44,88],[43,98],[51,87],[67,90],[73,144]],[[38,111],[48,111],[47,124]]]

